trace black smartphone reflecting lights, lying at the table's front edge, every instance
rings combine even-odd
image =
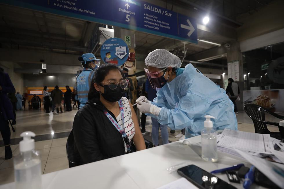
[[[236,188],[195,165],[188,165],[179,168],[177,172],[179,173],[179,175],[185,177],[192,184],[201,189]]]

